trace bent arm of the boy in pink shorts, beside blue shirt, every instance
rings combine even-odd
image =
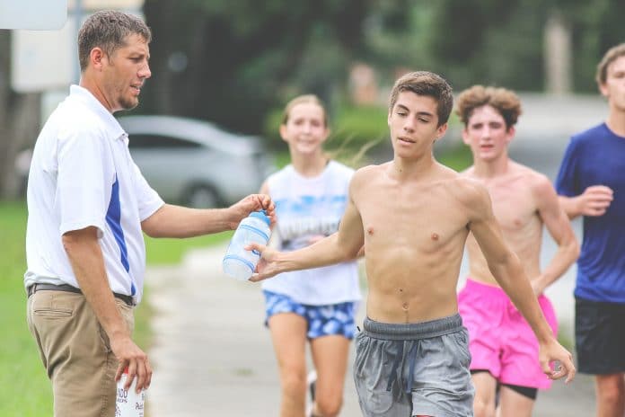
[[[534,293],[540,295],[577,260],[579,244],[567,215],[559,205],[558,194],[546,177],[541,176],[534,185],[533,194],[538,214],[551,237],[558,244],[558,251],[551,258],[549,265],[539,277],[532,279]]]

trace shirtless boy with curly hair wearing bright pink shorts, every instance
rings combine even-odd
[[[557,334],[555,312],[542,291],[575,262],[579,245],[549,179],[508,157],[521,102],[504,88],[474,85],[459,95],[456,113],[464,123],[462,139],[473,154],[473,165],[462,174],[489,190],[504,241],[522,261],[542,313]],[[558,252],[541,271],[543,225]],[[538,363],[538,341],[497,285],[472,235],[467,251],[469,278],[458,297],[458,310],[469,330],[475,415],[495,415],[498,387],[501,415],[530,417],[538,388],[551,385]]]

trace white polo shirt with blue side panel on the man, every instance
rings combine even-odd
[[[164,203],[133,162],[126,132],[83,87],[70,87],[41,130],[27,199],[27,288],[34,283],[79,287],[61,237],[95,226],[111,290],[140,301],[145,273],[141,222]]]

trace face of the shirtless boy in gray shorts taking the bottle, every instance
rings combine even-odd
[[[420,157],[431,152],[436,139],[445,135],[447,123],[438,126],[438,102],[409,91],[399,93],[389,111],[388,124],[395,155]]]

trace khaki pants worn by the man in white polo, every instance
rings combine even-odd
[[[115,303],[132,332],[132,307]],[[28,299],[27,320],[52,381],[55,417],[113,417],[119,362],[86,298],[37,291]]]

